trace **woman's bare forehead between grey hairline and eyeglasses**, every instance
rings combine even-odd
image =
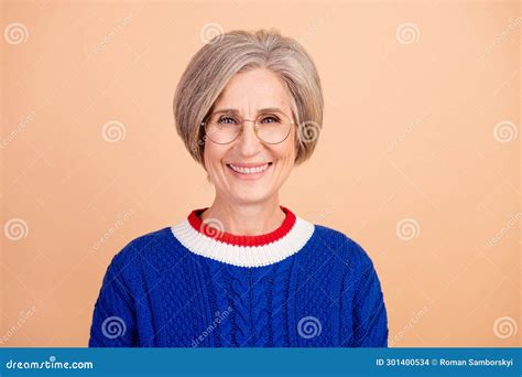
[[[240,112],[262,108],[290,110],[290,93],[274,73],[257,68],[232,76],[215,103],[215,111],[238,109]]]

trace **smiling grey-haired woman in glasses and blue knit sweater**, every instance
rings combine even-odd
[[[215,36],[183,74],[174,114],[214,203],[113,257],[89,346],[388,346],[367,252],[280,204],[323,118],[320,80],[303,46],[273,30]]]

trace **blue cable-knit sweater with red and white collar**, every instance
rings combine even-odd
[[[367,252],[281,208],[284,223],[262,236],[225,233],[202,208],[130,241],[104,277],[89,346],[388,346]]]

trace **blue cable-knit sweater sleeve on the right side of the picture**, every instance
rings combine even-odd
[[[354,284],[352,347],[388,347],[388,315],[381,283],[367,252],[355,244],[360,261]]]

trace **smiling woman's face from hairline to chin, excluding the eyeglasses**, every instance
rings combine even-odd
[[[274,73],[255,68],[236,74],[214,104],[213,111],[237,109],[241,118],[255,119],[260,109],[275,107],[294,120],[290,104],[284,83]],[[205,169],[216,187],[217,197],[237,204],[274,198],[294,166],[295,132],[292,126],[283,142],[268,144],[255,136],[253,121],[246,121],[242,133],[229,144],[217,144],[207,139]],[[246,166],[264,170],[247,174],[254,170],[246,170]]]

